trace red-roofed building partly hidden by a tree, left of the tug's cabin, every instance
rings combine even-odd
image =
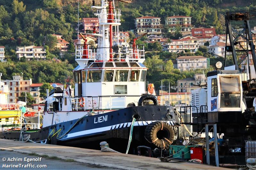
[[[50,83],[51,86],[53,83]],[[55,83],[56,85],[58,85],[58,87],[60,87],[61,89],[63,89],[63,84],[60,83]],[[36,100],[36,104],[39,103],[43,103],[45,102],[44,98],[40,98],[40,87],[43,85],[43,83],[32,83],[29,87],[30,87],[30,94],[31,96]]]

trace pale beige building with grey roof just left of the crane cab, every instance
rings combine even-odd
[[[204,84],[206,81],[205,74],[200,73],[195,74],[193,77],[181,79],[178,81],[179,92],[190,92],[191,90],[201,88],[194,85]]]

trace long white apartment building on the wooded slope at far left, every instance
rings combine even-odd
[[[44,47],[37,47],[37,46],[24,46],[24,47],[17,47],[16,54],[18,59],[22,58],[23,56],[26,57],[27,60],[45,60],[46,58],[46,51]]]

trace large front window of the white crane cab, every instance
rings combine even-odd
[[[240,107],[238,76],[220,77],[220,107]]]

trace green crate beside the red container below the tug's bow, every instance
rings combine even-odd
[[[192,145],[170,145],[170,156],[173,159],[190,159],[190,147]]]

